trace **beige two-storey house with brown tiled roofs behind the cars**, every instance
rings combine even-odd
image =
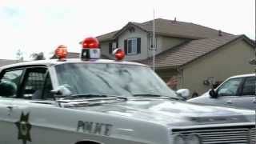
[[[153,66],[153,21],[128,22],[122,29],[98,36],[102,54],[114,58],[115,48],[127,61]],[[211,84],[236,74],[254,72],[254,42],[191,22],[155,19],[155,70],[165,81],[178,77],[179,88],[202,94]]]

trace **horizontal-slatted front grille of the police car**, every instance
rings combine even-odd
[[[251,127],[218,127],[203,129],[173,130],[173,134],[198,134],[202,144],[255,144],[256,129]]]

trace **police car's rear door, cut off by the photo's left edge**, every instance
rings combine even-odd
[[[0,74],[0,85],[4,82],[10,82],[16,86],[16,90],[19,88],[19,84],[22,79],[23,69],[3,70]],[[16,126],[14,124],[14,98],[17,96],[17,91],[13,94],[7,94],[8,90],[0,90],[0,143],[14,143],[14,134]]]

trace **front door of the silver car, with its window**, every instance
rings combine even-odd
[[[240,93],[245,78],[230,78],[218,87],[218,98],[212,98],[216,106],[238,106],[236,103],[242,99]]]

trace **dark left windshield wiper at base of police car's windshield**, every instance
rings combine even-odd
[[[71,100],[71,99],[78,99],[78,98],[122,98],[125,101],[128,99],[123,96],[118,95],[106,95],[106,94],[72,94],[70,96],[66,96],[62,98],[62,100]]]

